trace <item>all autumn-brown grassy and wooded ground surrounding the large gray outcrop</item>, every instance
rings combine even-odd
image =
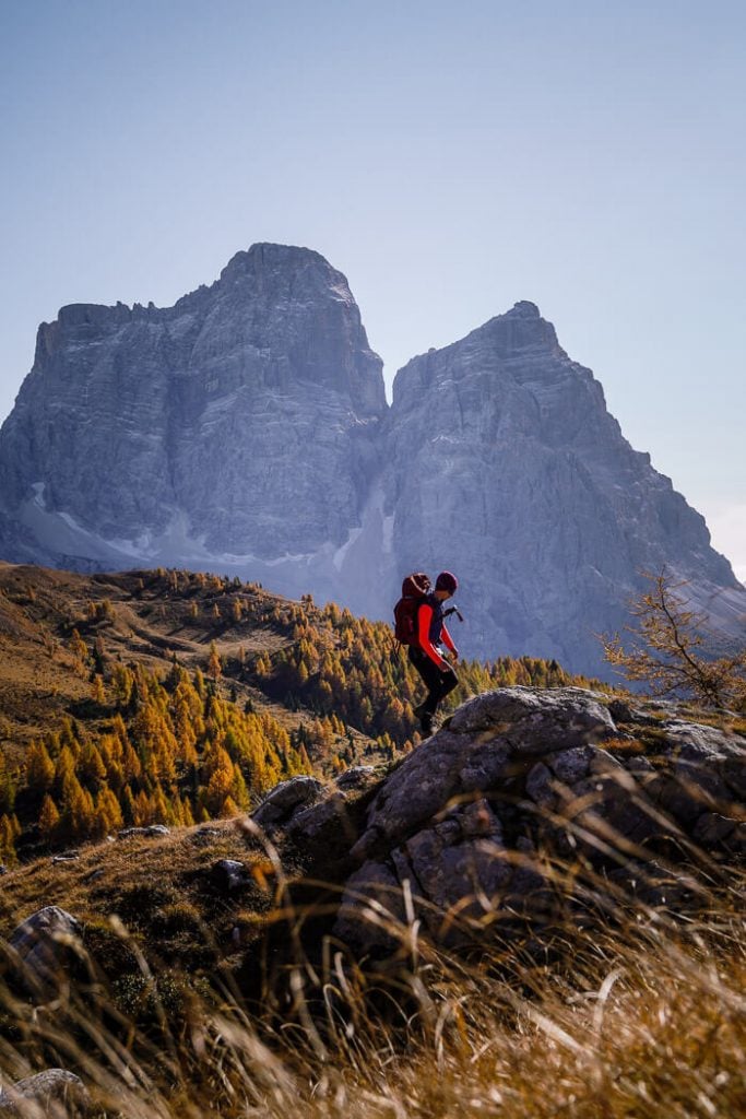
[[[317,881],[321,864],[247,828],[243,809],[282,777],[384,771],[416,741],[418,681],[387,627],[210,576],[6,565],[0,665],[6,856],[20,856],[0,946],[43,905],[83,924],[70,984],[32,1014],[0,951],[3,1083],[73,1070],[101,1119],[744,1113],[735,864],[686,913],[591,908],[546,951],[531,933],[468,958],[413,922],[377,966],[329,937],[339,883]],[[454,704],[567,680],[530,659],[461,677]],[[103,839],[117,811],[174,827]],[[79,857],[49,857],[84,839]],[[238,887],[226,858],[245,867]],[[577,865],[556,873],[570,884]]]

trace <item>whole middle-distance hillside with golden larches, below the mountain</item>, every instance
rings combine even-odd
[[[570,680],[532,658],[460,679],[453,705]],[[418,741],[422,694],[388,626],[310,596],[0,564],[0,861],[235,816],[293,774],[391,760]]]

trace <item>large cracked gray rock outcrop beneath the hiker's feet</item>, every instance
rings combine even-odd
[[[746,856],[745,781],[746,737],[676,707],[487,693],[379,784],[334,934],[387,952],[415,920],[460,946],[631,895],[676,908]]]

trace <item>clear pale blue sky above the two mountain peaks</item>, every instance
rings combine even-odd
[[[0,0],[0,419],[64,303],[255,241],[350,281],[390,384],[519,299],[746,579],[746,6]]]

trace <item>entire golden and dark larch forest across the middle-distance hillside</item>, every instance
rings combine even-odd
[[[188,670],[174,656],[159,674],[113,659],[101,628],[111,623],[111,603],[91,603],[65,643],[89,680],[96,717],[66,715],[16,769],[0,755],[0,862],[129,825],[234,816],[285,778],[361,760],[361,741],[372,740],[379,758],[419,741],[412,708],[422,683],[385,623],[333,603],[318,608],[310,595],[290,602],[258,584],[188,572],[159,570],[139,580],[135,594],[143,612],[168,606],[200,633],[204,664]],[[249,656],[238,645],[220,655],[220,639],[229,636],[235,649],[256,628],[281,639],[275,651]],[[459,677],[452,706],[512,684],[589,683],[529,657],[461,661]],[[283,704],[295,725],[289,731],[251,699],[242,703],[239,687]]]

